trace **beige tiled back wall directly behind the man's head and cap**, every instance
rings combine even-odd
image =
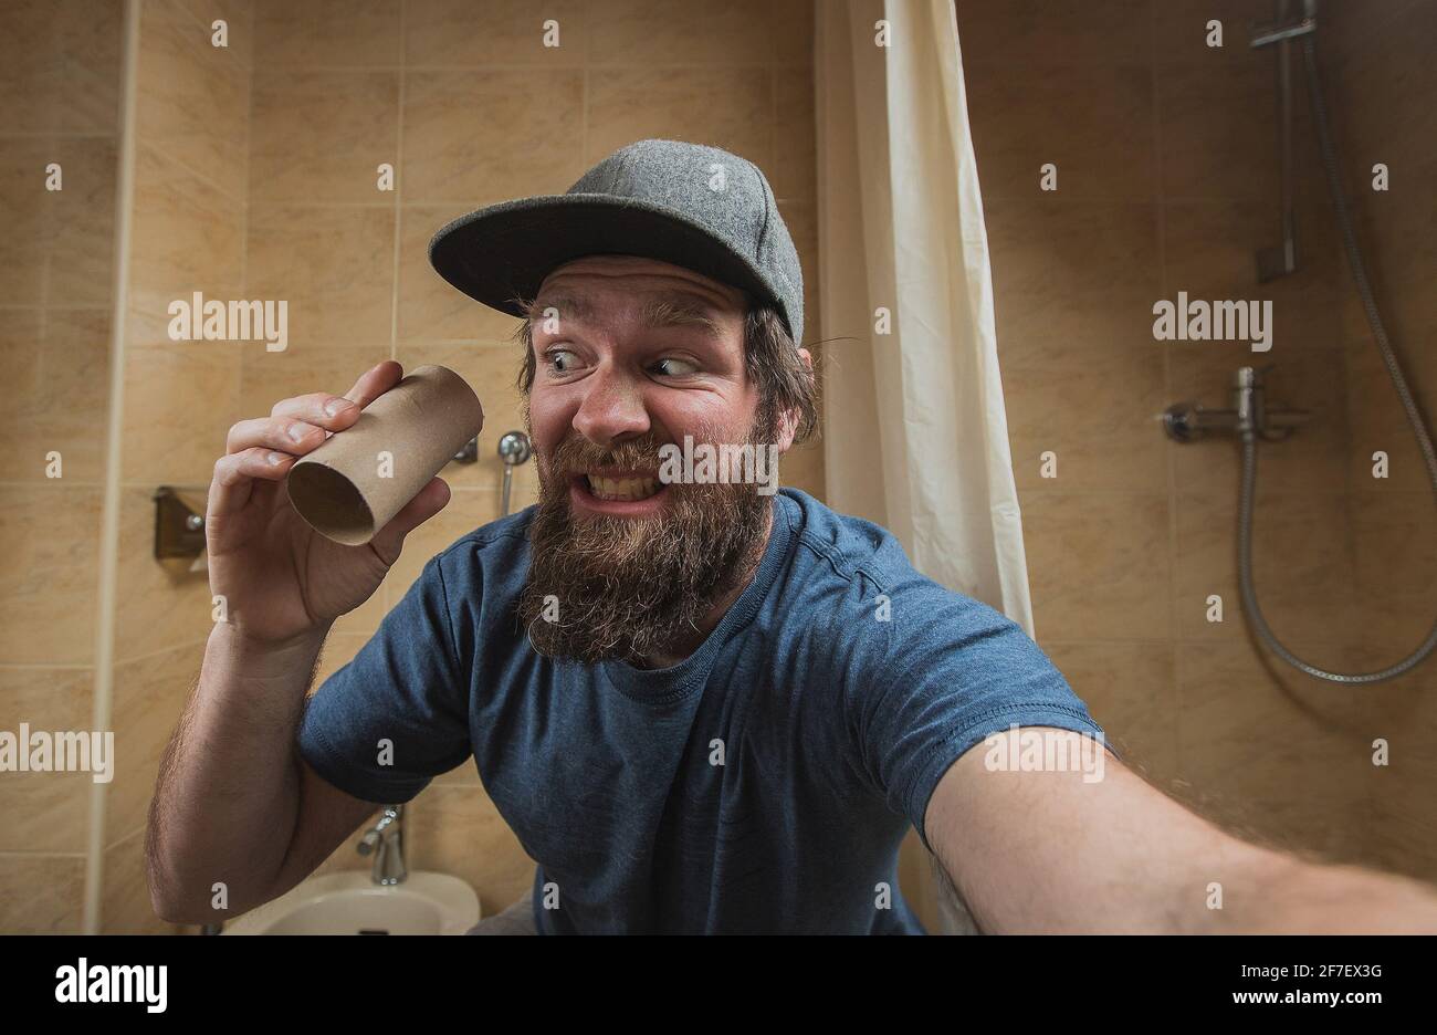
[[[716,144],[769,174],[818,312],[810,4],[560,0],[543,17],[559,22],[559,47],[542,46],[540,19],[522,0],[254,6],[244,267],[249,296],[289,299],[290,345],[243,351],[241,411],[345,391],[395,358],[405,369],[453,367],[487,413],[480,461],[445,469],[454,500],[410,536],[375,599],[336,625],[320,680],[354,657],[430,556],[499,516],[499,436],[523,428],[516,321],[428,266],[445,221],[562,193],[635,139]],[[397,170],[392,193],[376,190],[381,162]],[[783,476],[821,494],[819,448],[790,454]],[[512,506],[529,506],[536,489],[533,464],[522,467]],[[486,913],[527,893],[533,862],[471,765],[435,779],[410,824],[410,864],[464,877]],[[365,867],[354,840],[323,864]]]

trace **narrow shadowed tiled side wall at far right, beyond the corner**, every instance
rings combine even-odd
[[[1329,0],[1332,36],[1342,40],[1328,73],[1329,106],[1352,198],[1357,233],[1382,322],[1413,395],[1437,415],[1437,68],[1430,42],[1437,3],[1359,4]],[[1391,171],[1374,191],[1372,165]],[[1348,505],[1355,539],[1354,610],[1368,668],[1405,657],[1437,622],[1437,509],[1433,487],[1355,290],[1342,295]],[[1372,453],[1390,457],[1390,477],[1372,477]],[[1372,773],[1369,829],[1381,860],[1437,880],[1437,661],[1372,693],[1377,736],[1391,765]]]

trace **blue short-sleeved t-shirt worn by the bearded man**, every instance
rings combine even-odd
[[[470,532],[313,694],[303,758],[399,804],[473,756],[539,862],[540,933],[923,933],[898,845],[910,824],[927,844],[954,759],[1012,723],[1101,730],[1022,628],[887,529],[773,502],[750,585],[660,670],[539,654],[516,614],[533,507]]]

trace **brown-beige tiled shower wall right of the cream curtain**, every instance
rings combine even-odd
[[[1341,65],[1328,89],[1358,112],[1339,147],[1349,171],[1398,164],[1407,190],[1359,194],[1400,295],[1392,322],[1430,392],[1437,134],[1431,104],[1411,102],[1437,98],[1424,53],[1437,4],[1382,4],[1381,19],[1332,7],[1345,10],[1322,30],[1325,60]],[[1178,400],[1229,405],[1237,367],[1276,364],[1269,398],[1313,420],[1260,454],[1255,568],[1270,625],[1332,666],[1362,664],[1364,647],[1391,660],[1430,628],[1431,493],[1358,341],[1305,93],[1300,269],[1255,277],[1280,196],[1273,58],[1246,37],[1270,4],[961,0],[957,14],[1039,643],[1181,799],[1253,837],[1437,878],[1437,661],[1408,686],[1355,690],[1266,660],[1237,592],[1236,446],[1178,446],[1157,423]],[[1204,45],[1209,19],[1223,22],[1221,49]],[[1349,36],[1351,53],[1334,52]],[[1058,165],[1056,193],[1039,191],[1043,162]],[[1272,351],[1154,341],[1151,306],[1178,290],[1270,299]],[[1371,443],[1401,480],[1372,484]],[[1046,450],[1056,479],[1040,476]],[[1221,624],[1206,620],[1209,594],[1224,601]],[[1378,736],[1401,746],[1390,769],[1371,765]]]

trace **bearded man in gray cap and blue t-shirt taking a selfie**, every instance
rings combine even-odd
[[[921,933],[910,828],[984,930],[1433,926],[1413,881],[1249,845],[1148,786],[1015,622],[885,529],[795,489],[661,477],[678,443],[782,454],[815,430],[798,252],[752,162],[639,141],[566,194],[456,220],[430,259],[523,319],[539,502],[430,559],[306,707],[335,618],[448,487],[365,546],[277,492],[392,361],[231,428],[205,520],[230,621],[149,824],[162,917],[214,921],[217,880],[231,911],[283,894],[473,759],[537,862],[481,933]]]

